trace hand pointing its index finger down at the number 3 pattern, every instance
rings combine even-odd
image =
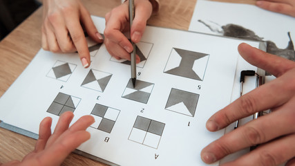
[[[83,28],[95,42],[103,42],[88,10],[79,0],[44,0],[43,5],[42,48],[53,53],[77,50],[82,65],[87,68],[91,59]]]

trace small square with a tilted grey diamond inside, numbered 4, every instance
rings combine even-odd
[[[70,77],[70,75],[72,75],[76,67],[77,65],[75,64],[57,61],[46,76],[61,80],[63,82],[67,82],[68,78]]]

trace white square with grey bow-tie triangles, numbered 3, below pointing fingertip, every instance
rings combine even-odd
[[[87,89],[93,89],[95,91],[104,92],[108,82],[111,80],[112,74],[105,73],[102,71],[97,71],[95,69],[91,69],[86,75],[84,81],[81,86]]]

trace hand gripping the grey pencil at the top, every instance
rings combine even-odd
[[[131,40],[134,43],[140,42],[146,21],[151,17],[153,7],[147,0],[135,0],[135,17],[131,27]],[[131,60],[130,53],[133,46],[123,33],[129,31],[129,1],[113,8],[106,13],[106,28],[104,30],[104,44],[108,53],[116,59]],[[140,57],[136,55],[136,62],[140,62]]]

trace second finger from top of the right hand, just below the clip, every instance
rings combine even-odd
[[[221,109],[207,121],[209,131],[217,131],[240,118],[245,118],[258,111],[265,111],[281,106],[295,93],[295,68],[278,79],[260,86],[258,89],[242,95],[236,101]]]

